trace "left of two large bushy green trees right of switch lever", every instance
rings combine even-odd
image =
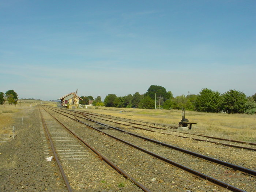
[[[203,89],[196,97],[195,107],[200,112],[219,112],[221,104],[221,96],[218,91]]]

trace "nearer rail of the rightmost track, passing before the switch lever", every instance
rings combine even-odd
[[[91,116],[91,115],[85,115],[84,113],[80,113],[80,112],[75,112],[75,111],[74,111],[74,113],[82,114],[82,115],[83,115],[84,117],[86,117],[86,118],[89,118],[88,116],[93,117],[93,116]],[[89,114],[89,113],[86,113],[86,114]],[[127,124],[125,124],[125,123],[119,123],[119,122],[112,121],[112,120],[102,119],[102,118],[99,118],[99,117],[93,117],[93,118],[98,118],[98,119],[101,119],[101,120],[104,120],[104,121],[109,121],[109,122],[116,123],[116,124],[120,124],[120,125],[126,125],[126,126],[130,126],[130,127],[134,127],[134,128],[137,128],[137,129],[143,129],[143,130],[150,131],[150,132],[161,133],[161,134],[163,134],[163,135],[174,135],[174,136],[177,136],[177,137],[180,137],[180,138],[189,138],[189,139],[193,139],[193,140],[197,140],[197,141],[209,142],[209,143],[214,143],[214,144],[218,144],[218,145],[224,145],[224,146],[229,146],[229,147],[242,148],[242,149],[247,149],[247,150],[256,151],[256,148],[244,147],[244,146],[237,146],[237,145],[226,144],[226,143],[219,143],[219,142],[208,141],[208,140],[197,139],[197,138],[190,138],[190,137],[181,136],[181,135],[175,135],[175,134],[171,134],[171,133],[162,133],[162,132],[154,131],[154,130],[151,130],[151,129],[136,127],[136,126],[133,126],[133,125],[127,125]],[[89,119],[90,119],[90,118],[89,118]],[[129,123],[129,122],[128,122],[128,123]],[[143,126],[147,126],[147,125],[143,125]],[[165,129],[165,130],[166,130],[166,129]],[[180,132],[179,132],[179,133],[180,133]]]

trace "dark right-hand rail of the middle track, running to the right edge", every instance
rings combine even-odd
[[[53,109],[52,109],[52,110],[53,110]],[[57,110],[57,109],[56,109],[56,110]],[[59,111],[60,111],[60,110],[59,110]],[[63,112],[63,111],[61,111],[61,112]],[[56,112],[56,113],[59,113],[59,112]],[[67,112],[63,112],[63,113],[67,113]],[[60,113],[60,114],[61,114],[61,113]],[[70,113],[68,113],[68,114],[69,114],[69,115],[72,115],[72,114],[70,114]],[[62,115],[66,116],[65,114],[62,114]],[[67,117],[68,117],[68,116],[67,116]],[[69,117],[69,118],[71,118],[71,117]],[[138,137],[138,138],[141,138],[141,139],[150,141],[150,142],[152,142],[152,143],[159,144],[159,145],[161,145],[161,146],[165,146],[165,147],[167,147],[167,148],[172,148],[172,149],[174,149],[174,150],[181,151],[181,152],[183,152],[183,153],[187,153],[187,154],[189,154],[189,155],[192,155],[192,156],[195,156],[195,157],[199,157],[199,158],[205,159],[205,160],[207,160],[207,161],[214,162],[214,163],[217,163],[217,164],[219,164],[219,165],[223,165],[223,166],[229,167],[229,168],[231,168],[231,169],[239,170],[239,171],[241,171],[241,172],[248,173],[248,174],[251,174],[251,175],[253,175],[253,176],[256,176],[256,171],[255,171],[255,170],[252,170],[252,169],[247,169],[247,168],[245,168],[245,167],[241,167],[241,166],[238,166],[238,165],[234,165],[234,164],[232,164],[232,163],[227,163],[227,162],[225,162],[225,161],[221,161],[221,160],[219,160],[219,159],[214,159],[214,158],[208,157],[208,156],[206,156],[206,155],[201,155],[201,154],[195,153],[195,152],[193,152],[193,151],[185,150],[185,149],[182,149],[182,148],[180,148],[180,147],[172,146],[172,145],[167,144],[167,143],[162,143],[162,142],[159,142],[159,141],[157,141],[157,140],[150,139],[150,138],[146,138],[146,137],[144,137],[144,136],[137,135],[137,134],[132,133],[132,132],[124,131],[124,130],[122,130],[122,129],[113,127],[113,126],[111,126],[111,125],[107,125],[107,124],[104,124],[104,123],[100,123],[100,122],[98,122],[98,121],[94,121],[94,120],[87,119],[87,118],[84,118],[84,117],[80,117],[80,118],[83,118],[83,119],[85,119],[85,120],[89,120],[89,121],[91,121],[91,122],[94,122],[94,123],[97,123],[97,124],[100,124],[100,125],[103,125],[103,126],[106,126],[106,127],[113,128],[113,129],[115,129],[115,130],[117,130],[117,131],[127,133],[127,134],[129,134],[129,135],[132,135],[132,136],[135,136],[135,137]],[[73,118],[71,118],[71,119],[73,119]]]

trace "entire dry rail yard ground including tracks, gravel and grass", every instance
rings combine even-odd
[[[68,191],[57,161],[72,191],[256,191],[255,115],[186,111],[197,124],[178,131],[175,110],[35,104],[0,106],[0,191]]]

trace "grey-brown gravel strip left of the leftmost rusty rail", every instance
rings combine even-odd
[[[8,124],[17,136],[0,144],[0,191],[65,191],[56,163],[45,159],[38,109],[15,113]]]

